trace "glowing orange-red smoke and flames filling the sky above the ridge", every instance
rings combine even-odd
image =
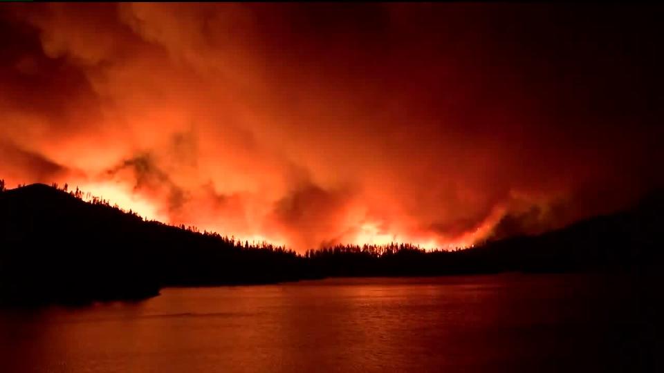
[[[553,229],[661,185],[662,15],[4,4],[0,178],[298,250]]]

